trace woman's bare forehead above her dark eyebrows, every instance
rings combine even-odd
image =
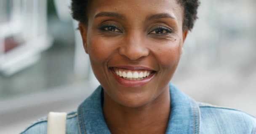
[[[120,13],[126,19],[168,13],[174,16],[176,21],[183,20],[183,7],[177,3],[177,0],[92,0],[88,7],[89,19],[100,12]]]

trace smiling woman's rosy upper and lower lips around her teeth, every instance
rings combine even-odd
[[[123,69],[128,69],[128,70],[150,70],[149,68],[145,68],[145,67],[130,67],[130,66],[126,66],[124,68],[123,67],[118,67],[118,68],[123,68]],[[115,77],[115,80],[117,80],[118,83],[120,83],[121,85],[123,85],[124,87],[128,87],[128,88],[135,88],[135,87],[141,87],[144,84],[147,84],[150,80],[152,80],[152,78],[155,76],[156,72],[153,71],[148,77],[145,77],[143,80],[126,80],[120,76],[118,76],[115,71],[113,69],[110,69],[112,74]]]

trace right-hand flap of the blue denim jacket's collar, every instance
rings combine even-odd
[[[171,113],[166,134],[199,134],[199,106],[170,83]]]

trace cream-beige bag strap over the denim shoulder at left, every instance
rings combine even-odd
[[[67,113],[50,112],[47,121],[47,134],[66,134]]]

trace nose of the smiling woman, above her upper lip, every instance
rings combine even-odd
[[[125,37],[119,53],[130,60],[138,60],[149,55],[149,49],[143,36],[139,33],[130,33]]]

